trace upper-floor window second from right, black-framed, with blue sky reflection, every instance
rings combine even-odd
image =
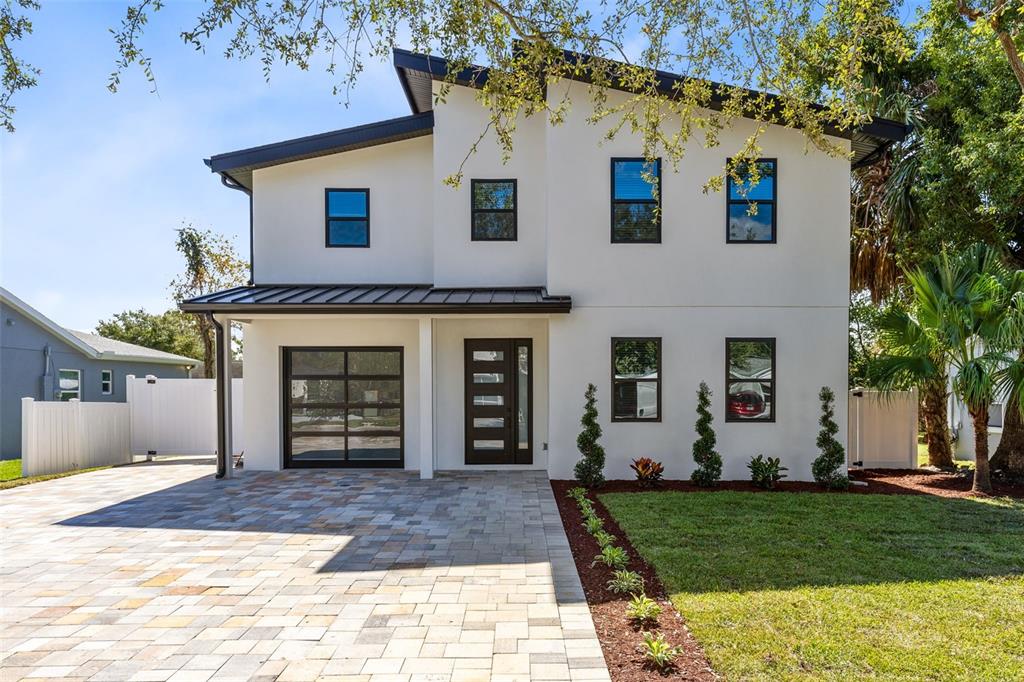
[[[611,243],[662,242],[662,160],[611,160]]]

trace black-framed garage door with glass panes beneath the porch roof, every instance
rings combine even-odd
[[[285,349],[285,466],[401,467],[401,348]]]

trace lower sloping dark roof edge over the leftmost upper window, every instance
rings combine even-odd
[[[431,134],[433,128],[434,114],[428,111],[318,135],[218,154],[207,159],[206,165],[213,172],[227,175],[238,184],[252,189],[252,172],[257,168],[421,137]]]

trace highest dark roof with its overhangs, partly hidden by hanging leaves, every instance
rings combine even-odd
[[[575,63],[582,61],[586,63],[592,59],[590,55],[565,52],[567,61]],[[417,54],[409,50],[395,48],[393,51],[395,71],[401,79],[402,89],[409,104],[416,113],[429,112],[433,109],[433,96],[431,94],[430,83],[435,80],[444,80],[447,76],[447,61],[441,57],[429,54]],[[655,71],[658,90],[665,94],[673,95],[677,92],[678,85],[686,77],[679,74],[672,74],[667,71]],[[487,82],[488,72],[485,67],[472,67],[464,69],[455,76],[455,82],[467,87],[481,87]],[[580,80],[587,82],[586,77]],[[710,108],[720,110],[726,98],[726,92],[731,90],[729,86],[721,83],[710,83],[712,87],[712,97]],[[615,84],[612,84],[615,87]],[[628,88],[622,88],[628,90]],[[749,95],[760,96],[763,93],[746,90]],[[768,95],[769,99],[781,106],[781,98],[775,95]],[[824,108],[814,104],[819,111]],[[753,118],[753,117],[752,117]],[[857,128],[854,131],[827,129],[828,134],[837,137],[845,137],[851,140],[853,152],[852,164],[854,167],[873,160],[880,150],[902,140],[907,133],[907,127],[897,121],[877,118],[870,123]]]

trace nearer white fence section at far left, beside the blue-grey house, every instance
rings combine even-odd
[[[124,402],[37,402],[22,398],[22,475],[132,461]]]

